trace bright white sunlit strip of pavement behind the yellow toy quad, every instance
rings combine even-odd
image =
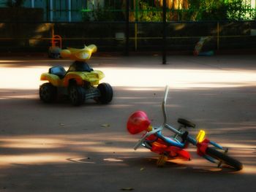
[[[49,66],[18,68],[0,66],[0,88],[37,89],[42,84],[39,80],[40,75],[48,72],[48,68]],[[126,67],[97,69],[105,73],[102,81],[122,87],[145,89],[169,84],[171,88],[230,88],[256,85],[256,75],[253,71]]]

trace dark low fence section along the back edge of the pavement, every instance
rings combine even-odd
[[[48,51],[53,34],[63,47],[95,44],[99,51],[162,50],[162,23],[0,23],[0,51]],[[206,50],[256,49],[255,21],[167,22],[166,50],[191,51],[201,37],[211,37]]]

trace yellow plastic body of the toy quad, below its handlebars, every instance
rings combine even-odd
[[[99,80],[105,77],[101,71],[94,70],[92,72],[68,72],[63,79],[56,74],[43,73],[40,80],[47,80],[57,87],[67,87],[70,80],[75,80],[77,85],[83,86],[84,82],[90,82],[91,85],[99,85]]]

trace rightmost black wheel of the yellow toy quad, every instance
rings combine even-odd
[[[113,89],[107,82],[102,82],[97,87],[99,89],[99,101],[102,104],[108,104],[113,99]]]

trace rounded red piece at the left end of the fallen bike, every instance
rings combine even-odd
[[[150,120],[148,120],[146,112],[143,111],[134,112],[127,121],[127,130],[130,134],[146,131],[148,126],[150,126]]]

